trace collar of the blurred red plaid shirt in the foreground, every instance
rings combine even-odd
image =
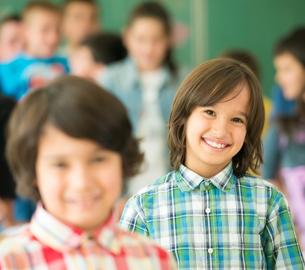
[[[90,240],[96,241],[114,254],[121,252],[121,245],[116,237],[119,228],[116,227],[113,213],[100,228],[89,232],[59,221],[43,208],[41,202],[38,202],[30,230],[39,241],[59,252],[77,249]]]

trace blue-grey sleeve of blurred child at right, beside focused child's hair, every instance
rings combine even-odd
[[[278,145],[278,128],[276,125],[270,126],[264,140],[264,165],[262,174],[264,179],[273,179],[276,175],[276,169],[280,162],[280,149]]]

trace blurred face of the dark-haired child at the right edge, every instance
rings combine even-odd
[[[290,53],[283,53],[274,58],[275,79],[283,90],[287,100],[297,99],[305,87],[305,68]]]

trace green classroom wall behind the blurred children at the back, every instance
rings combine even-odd
[[[20,12],[30,0],[0,0],[0,18]],[[62,3],[63,0],[50,0]],[[133,6],[145,0],[98,0],[103,29],[120,33]],[[189,38],[174,50],[177,62],[194,68],[226,49],[249,50],[261,67],[264,93],[273,85],[275,42],[299,25],[305,26],[304,0],[159,0],[177,29]],[[179,30],[180,29],[180,30]]]

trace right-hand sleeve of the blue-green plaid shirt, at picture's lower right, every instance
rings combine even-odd
[[[267,213],[263,232],[269,270],[304,270],[304,258],[293,227],[285,196],[278,192]]]

